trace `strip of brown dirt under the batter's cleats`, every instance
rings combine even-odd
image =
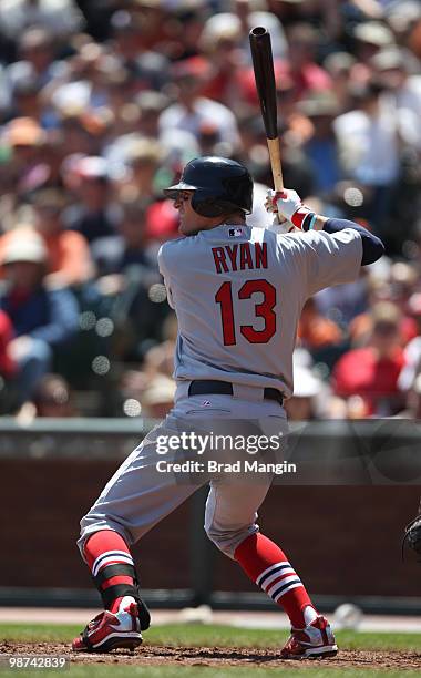
[[[315,667],[317,662],[329,662],[336,668],[421,669],[421,654],[414,651],[340,650],[330,659],[306,659],[301,661],[279,658],[273,649],[240,647],[166,647],[143,645],[134,653],[117,650],[107,655],[74,654],[64,643],[0,643],[0,655],[49,655],[65,656],[73,662],[119,664],[135,666],[265,666]]]

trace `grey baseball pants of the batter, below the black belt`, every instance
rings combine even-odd
[[[157,442],[163,436],[179,434],[186,422],[189,430],[193,428],[202,433],[215,432],[216,429],[235,431],[236,434],[239,431],[244,434],[260,431],[261,434],[286,436],[285,410],[275,401],[264,400],[263,389],[238,387],[234,397],[188,397],[187,386],[178,386],[174,409],[129,455],[82,518],[78,542],[82,556],[84,542],[100,530],[117,532],[129,545],[137,542],[206,483],[210,490],[205,508],[205,531],[223,553],[234,558],[236,547],[258,531],[257,511],[271,484],[271,474],[242,477],[225,472],[205,472],[193,477],[158,472],[157,462],[163,459],[171,461],[171,455],[160,455]],[[212,458],[225,462],[237,459],[238,453],[217,450]],[[183,460],[197,461],[201,456],[196,451],[187,452]]]

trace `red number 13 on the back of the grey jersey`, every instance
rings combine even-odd
[[[238,290],[238,299],[250,299],[255,294],[263,295],[263,301],[255,305],[255,317],[264,319],[264,328],[257,330],[253,325],[240,325],[239,331],[250,343],[267,343],[276,332],[276,289],[267,280],[247,280]],[[220,305],[224,346],[234,346],[237,340],[232,282],[223,282],[215,301]]]

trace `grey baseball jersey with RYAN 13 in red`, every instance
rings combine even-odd
[[[178,319],[176,380],[215,379],[292,392],[292,351],[308,297],[358,277],[358,232],[276,235],[222,225],[158,254]]]

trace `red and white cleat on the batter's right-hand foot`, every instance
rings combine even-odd
[[[338,651],[333,633],[325,617],[317,617],[305,628],[291,628],[291,636],[280,650],[283,659],[335,657]]]

